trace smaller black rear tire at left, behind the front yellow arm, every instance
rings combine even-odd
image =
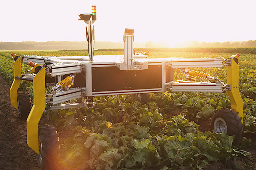
[[[31,110],[31,100],[28,92],[18,93],[18,115],[20,119],[26,120]]]

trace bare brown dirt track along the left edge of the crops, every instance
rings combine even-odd
[[[10,104],[10,86],[0,76],[0,169],[38,170],[35,152],[26,143],[26,121]]]

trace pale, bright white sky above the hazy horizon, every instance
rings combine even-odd
[[[96,41],[248,41],[256,39],[255,0],[0,0],[0,41],[86,41],[78,15],[97,6]]]

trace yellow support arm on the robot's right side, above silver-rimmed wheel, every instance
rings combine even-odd
[[[227,66],[227,84],[230,84],[231,90],[228,90],[227,93],[231,102],[231,108],[238,112],[239,117],[242,117],[243,123],[244,103],[238,90],[239,66],[238,63],[234,61],[234,59],[239,61],[238,57],[239,56],[229,59],[231,65]]]

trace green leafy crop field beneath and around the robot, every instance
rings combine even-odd
[[[150,57],[226,59],[240,53],[239,49],[228,48],[205,51],[153,49]],[[244,102],[244,137],[238,146],[232,146],[234,137],[210,132],[210,118],[214,111],[231,107],[226,93],[156,93],[146,104],[138,102],[134,95],[102,96],[94,98],[96,106],[90,110],[60,110],[44,115],[45,121],[53,123],[60,135],[62,160],[59,166],[63,169],[255,169],[256,55],[255,48],[241,51],[239,89]],[[1,76],[9,86],[13,81],[10,53],[0,52]],[[81,50],[15,53],[88,55]],[[123,51],[106,49],[95,52],[95,55],[113,54],[123,54]],[[28,65],[22,64],[22,72],[28,69]],[[226,67],[196,70],[226,82]],[[185,80],[178,70],[175,78]],[[19,90],[33,94],[31,83],[22,82]]]

